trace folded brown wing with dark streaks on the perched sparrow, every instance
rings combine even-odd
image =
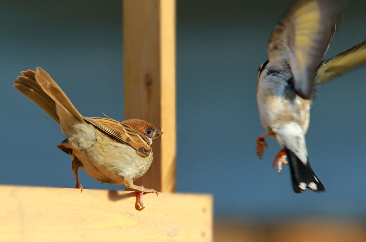
[[[149,156],[151,145],[138,130],[111,118],[84,117],[84,119],[115,139],[130,145],[143,157]]]

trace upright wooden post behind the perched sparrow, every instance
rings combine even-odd
[[[175,190],[175,0],[123,1],[125,119],[161,129],[154,160],[135,183],[159,192]]]

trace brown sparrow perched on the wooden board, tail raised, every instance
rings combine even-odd
[[[129,119],[118,122],[112,118],[83,117],[66,94],[42,68],[21,72],[15,81],[16,90],[43,109],[67,136],[57,145],[72,157],[75,188],[82,190],[78,169],[94,179],[140,192],[154,192],[133,181],[146,173],[153,161],[151,144],[163,132],[146,121]],[[157,193],[158,194],[158,193]]]

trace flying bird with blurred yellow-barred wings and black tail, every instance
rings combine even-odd
[[[257,139],[262,158],[264,137],[274,137],[283,150],[273,161],[280,173],[290,162],[295,193],[307,188],[324,191],[310,167],[305,134],[310,121],[314,85],[324,83],[366,61],[365,41],[323,61],[342,20],[343,1],[300,0],[272,32],[267,46],[269,60],[258,70],[257,103],[266,133]]]

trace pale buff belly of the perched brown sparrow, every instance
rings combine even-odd
[[[123,178],[130,175],[140,178],[149,169],[153,153],[142,157],[130,145],[116,142],[102,135],[93,147],[84,151],[73,151],[81,161],[81,168],[94,179],[115,185],[123,185]]]

